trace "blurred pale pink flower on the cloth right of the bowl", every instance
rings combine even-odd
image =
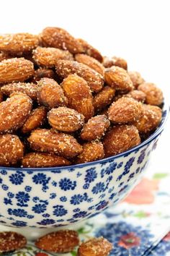
[[[158,180],[144,178],[138,186],[133,189],[124,202],[135,205],[151,204],[154,201],[154,192],[158,190]]]

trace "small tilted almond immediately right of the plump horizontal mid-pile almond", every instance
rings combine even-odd
[[[84,128],[81,131],[81,139],[89,141],[100,139],[108,128],[109,120],[107,116],[99,115],[91,117],[91,119],[84,124]]]

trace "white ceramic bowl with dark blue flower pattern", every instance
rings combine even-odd
[[[119,155],[59,168],[1,167],[0,224],[50,230],[79,223],[116,205],[140,182],[168,112],[165,103],[153,135]]]

